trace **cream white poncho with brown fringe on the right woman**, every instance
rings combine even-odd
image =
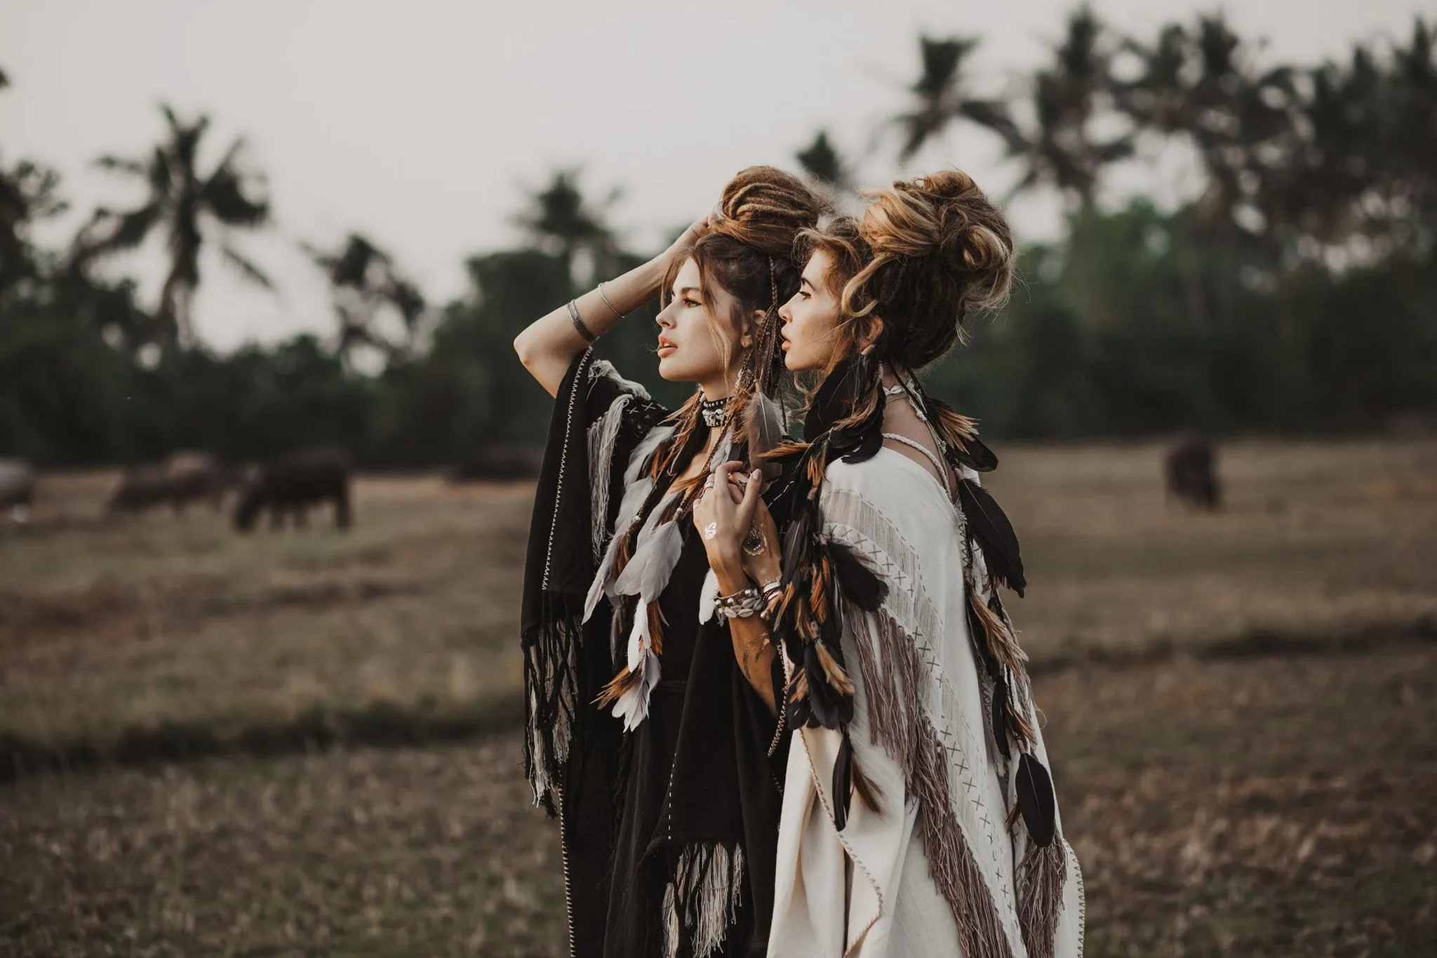
[[[769,955],[1081,955],[1082,876],[1061,827],[1045,850],[1020,822],[1009,826],[1015,768],[984,722],[993,692],[961,585],[964,562],[979,566],[967,570],[976,582],[987,575],[980,552],[966,559],[961,510],[890,448],[829,464],[821,504],[823,534],[888,583],[878,612],[846,610],[842,638],[855,760],[881,807],[855,799],[838,832],[829,783],[841,734],[796,730]],[[1026,679],[1022,701],[1036,730]],[[1048,766],[1040,734],[1035,751]]]

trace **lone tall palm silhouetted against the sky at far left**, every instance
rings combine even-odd
[[[200,253],[205,233],[216,233],[220,253],[247,280],[272,289],[269,276],[244,257],[231,241],[234,230],[254,230],[269,221],[269,200],[260,177],[240,165],[244,141],[236,139],[207,172],[198,168],[200,144],[208,116],[181,121],[161,105],[165,138],[144,158],[101,157],[102,169],[145,184],[145,201],[126,213],[101,207],[75,241],[78,264],[138,247],[155,230],[165,233],[170,270],[160,290],[155,320],[161,335],[180,348],[195,343],[191,300],[200,284]]]

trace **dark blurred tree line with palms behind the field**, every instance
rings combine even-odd
[[[1000,200],[1040,191],[1065,208],[1058,241],[1022,250],[1010,306],[928,371],[938,395],[1025,438],[1433,422],[1437,30],[1418,19],[1315,66],[1265,62],[1260,46],[1220,14],[1140,39],[1079,7],[1045,63],[994,78],[974,69],[976,37],[920,37],[907,102],[875,131],[892,171],[987,138],[1016,184]],[[305,246],[332,292],[331,336],[220,355],[193,322],[201,253],[270,286],[237,241],[270,224],[270,203],[243,141],[203,167],[208,119],[162,115],[152,148],[96,161],[144,201],[95,210],[63,248],[32,237],[65,210],[59,177],[0,154],[0,454],[256,460],[338,442],[371,467],[433,467],[542,442],[549,401],[509,343],[641,259],[576,171],[526,198],[519,246],[467,261],[458,299],[430,303],[356,233]],[[1193,164],[1191,188],[1124,194],[1164,151]],[[795,159],[855,190],[861,164],[826,131]],[[152,236],[167,271],[142,302],[96,267]],[[601,346],[677,399],[654,381],[651,333],[631,320]]]

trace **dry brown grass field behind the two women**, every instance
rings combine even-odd
[[[1091,955],[1437,941],[1437,442],[1000,450]],[[514,733],[532,490],[359,483],[356,526],[0,524],[0,955],[559,955]]]

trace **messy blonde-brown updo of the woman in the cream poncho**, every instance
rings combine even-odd
[[[1007,299],[1013,237],[958,169],[898,180],[868,197],[858,234],[869,260],[845,283],[842,312],[881,316],[879,353],[921,369],[958,342],[971,310]]]

